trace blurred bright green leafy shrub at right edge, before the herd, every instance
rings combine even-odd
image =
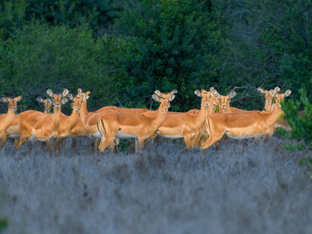
[[[301,102],[293,100],[282,102],[282,108],[291,130],[289,132],[280,130],[280,132],[287,138],[295,139],[298,142],[296,145],[286,145],[287,149],[302,150],[305,147],[312,149],[312,103],[308,100],[307,92],[304,89],[300,89],[299,94]],[[299,112],[301,104],[304,106],[305,113]]]

